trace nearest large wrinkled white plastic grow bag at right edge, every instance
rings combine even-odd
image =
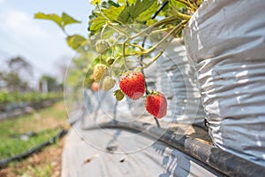
[[[209,0],[185,28],[215,145],[265,166],[265,1]]]

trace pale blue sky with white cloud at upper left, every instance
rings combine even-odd
[[[0,60],[21,56],[34,66],[35,78],[42,73],[56,75],[57,63],[72,58],[74,51],[55,23],[34,19],[34,13],[66,12],[82,22],[66,27],[66,31],[87,37],[88,15],[93,8],[80,0],[0,0]]]

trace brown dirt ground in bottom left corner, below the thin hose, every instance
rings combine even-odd
[[[65,136],[64,136],[65,137]],[[33,156],[0,169],[0,177],[61,176],[64,138]]]

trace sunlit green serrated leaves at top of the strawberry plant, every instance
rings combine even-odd
[[[92,12],[88,22],[90,35],[100,32],[108,22],[116,22],[120,25],[146,24],[159,8],[159,3],[155,0],[131,0],[128,3],[125,1],[119,1],[119,3],[108,1],[108,3],[102,3],[102,12],[98,12],[97,9]]]

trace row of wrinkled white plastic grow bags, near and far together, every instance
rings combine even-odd
[[[204,1],[185,44],[174,40],[147,78],[168,96],[163,120],[206,118],[216,147],[265,167],[264,9],[264,0]]]

